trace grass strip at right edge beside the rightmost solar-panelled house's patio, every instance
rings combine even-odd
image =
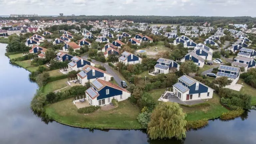
[[[242,87],[242,89],[240,90],[240,92],[241,92],[241,93],[244,93],[244,94],[249,94],[249,95],[251,95],[251,96],[252,96],[251,104],[255,106],[255,105],[256,105],[256,89],[253,88],[253,87],[251,87],[250,85],[246,84],[246,83],[244,82],[244,80],[241,79],[241,78],[238,80],[237,83],[238,83],[238,84],[242,84],[242,83],[243,83],[243,87]]]

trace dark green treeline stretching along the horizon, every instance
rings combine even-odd
[[[0,19],[15,19],[15,20],[23,20],[25,18],[11,18],[11,17],[0,17]],[[134,22],[143,22],[143,23],[154,23],[154,24],[186,24],[186,23],[204,23],[211,22],[213,25],[216,24],[226,24],[226,23],[255,23],[256,18],[252,18],[249,16],[243,17],[202,17],[202,16],[113,16],[113,15],[105,15],[105,16],[58,16],[58,17],[29,17],[29,20],[41,20],[41,21],[49,21],[49,20],[62,20],[62,21],[72,21],[75,20],[77,22],[81,21],[102,21],[102,20],[127,20]]]

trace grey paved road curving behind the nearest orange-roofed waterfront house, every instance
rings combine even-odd
[[[87,59],[88,58],[88,54],[82,56],[82,58],[83,59]],[[92,62],[95,63],[95,64],[100,64],[100,65],[104,66],[106,68],[106,71],[113,76],[113,78],[116,81],[116,83],[119,86],[121,86],[121,81],[122,81],[121,78],[110,68],[108,63],[102,63],[102,62],[99,62],[99,61],[96,61],[96,60],[93,60],[93,59],[92,59]]]

